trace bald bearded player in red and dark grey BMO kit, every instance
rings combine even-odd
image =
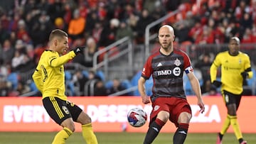
[[[148,104],[150,100],[149,96],[146,96],[144,84],[151,75],[154,80],[153,94],[150,96],[153,109],[144,144],[152,143],[168,120],[177,127],[173,138],[174,144],[182,144],[186,140],[189,121],[192,117],[191,106],[188,104],[183,90],[183,72],[186,72],[191,82],[193,92],[198,98],[198,106],[203,113],[205,107],[201,96],[201,87],[193,74],[188,55],[181,50],[174,49],[174,28],[169,25],[161,26],[158,38],[161,48],[148,57],[142,77],[138,81],[142,102]]]

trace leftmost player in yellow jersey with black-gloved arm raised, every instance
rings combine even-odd
[[[82,49],[83,47],[78,47],[65,54],[68,50],[68,34],[60,29],[53,30],[49,37],[49,48],[42,53],[32,76],[36,87],[43,95],[43,106],[50,118],[63,127],[55,135],[53,144],[65,143],[65,140],[75,131],[73,121],[81,123],[82,137],[87,144],[97,144],[90,116],[68,101],[65,96],[63,65],[81,53]]]

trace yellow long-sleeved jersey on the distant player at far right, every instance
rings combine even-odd
[[[233,94],[242,93],[242,75],[241,72],[250,70],[250,57],[239,52],[238,55],[230,55],[228,51],[220,52],[216,55],[213,64],[210,67],[210,80],[213,82],[217,77],[218,67],[221,66],[221,90],[226,90]],[[247,71],[246,71],[247,72]],[[248,78],[252,77],[252,70],[248,72]]]

